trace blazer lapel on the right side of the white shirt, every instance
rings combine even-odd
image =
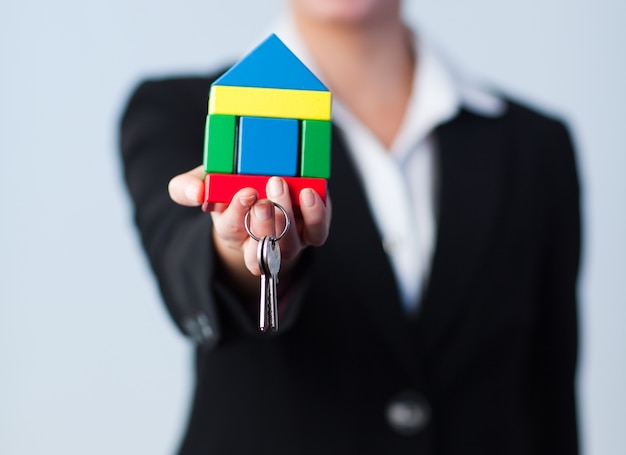
[[[439,217],[430,281],[417,320],[423,348],[443,340],[469,310],[464,297],[481,274],[506,200],[504,120],[466,111],[437,130]],[[499,128],[498,128],[499,126]],[[482,278],[484,279],[484,277]]]

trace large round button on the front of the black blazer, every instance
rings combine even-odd
[[[385,409],[387,423],[398,434],[413,436],[430,420],[430,405],[426,399],[413,391],[394,396]]]

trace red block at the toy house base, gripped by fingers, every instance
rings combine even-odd
[[[254,188],[259,193],[259,198],[265,199],[265,186],[270,179],[269,175],[248,174],[207,174],[204,178],[204,204],[206,210],[208,204],[216,202],[229,203],[237,191],[242,188]],[[281,177],[289,186],[291,203],[300,205],[300,191],[304,188],[312,188],[326,202],[326,179],[314,177]]]

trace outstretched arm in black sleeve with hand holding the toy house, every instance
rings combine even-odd
[[[198,78],[141,84],[122,118],[120,148],[135,223],[167,309],[182,332],[213,347],[226,334],[259,334],[251,317],[259,302],[257,245],[245,230],[245,213],[254,207],[250,224],[257,235],[275,232],[284,221],[282,214],[272,215],[273,204],[257,200],[250,188],[240,190],[230,204],[216,204],[211,215],[197,207],[203,181],[196,166],[210,83]],[[283,191],[270,196],[288,210],[292,222],[281,240],[285,261],[280,286],[290,292],[279,289],[279,297],[292,296],[281,330],[297,314],[299,293],[291,291],[304,289],[306,274],[300,269],[310,256],[304,250],[324,242],[331,212],[328,198],[324,204],[317,194],[303,190],[301,205],[292,207],[284,185]],[[294,283],[298,286],[290,287]]]

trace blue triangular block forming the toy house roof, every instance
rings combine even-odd
[[[243,57],[213,85],[328,91],[275,34]]]

